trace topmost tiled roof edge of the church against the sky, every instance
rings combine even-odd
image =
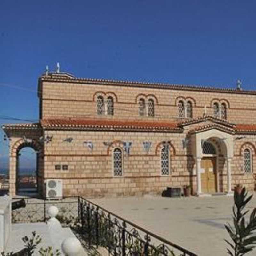
[[[256,95],[256,91],[237,90],[236,88],[216,88],[213,86],[199,86],[199,85],[181,85],[181,84],[166,84],[166,83],[148,83],[137,81],[122,81],[111,79],[93,79],[93,78],[79,78],[74,77],[68,73],[49,73],[48,76],[42,75],[39,78],[40,81],[49,82],[63,82],[63,83],[79,83],[79,84],[109,84],[109,85],[123,85],[123,86],[135,86],[135,87],[150,87],[150,88],[164,88],[173,90],[192,90],[192,91],[205,91],[205,92],[226,92],[226,93],[238,93],[238,94],[251,94]]]

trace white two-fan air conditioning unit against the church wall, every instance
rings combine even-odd
[[[62,199],[62,180],[45,180],[46,199]]]

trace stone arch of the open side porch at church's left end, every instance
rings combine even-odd
[[[19,152],[23,148],[32,148],[36,152],[36,184],[37,192],[42,193],[40,185],[40,177],[42,177],[43,166],[43,148],[37,140],[20,138],[16,139],[13,145],[10,146],[10,164],[9,164],[9,192],[12,196],[18,194],[18,166]]]

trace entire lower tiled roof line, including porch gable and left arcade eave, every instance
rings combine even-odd
[[[141,121],[141,120],[102,120],[102,119],[43,119],[40,123],[4,124],[3,130],[15,129],[81,129],[81,130],[135,130],[135,131],[166,131],[182,132],[182,126],[211,120],[212,124],[198,125],[189,133],[217,128],[229,133],[256,133],[256,124],[230,124],[226,121],[207,117],[173,123],[168,121]],[[217,121],[217,123],[215,122]]]

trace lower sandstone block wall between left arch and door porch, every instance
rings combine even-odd
[[[183,134],[153,132],[93,132],[93,131],[46,131],[53,136],[45,145],[44,178],[63,179],[64,194],[85,196],[131,196],[153,192],[161,194],[166,187],[182,187],[195,184],[193,157],[182,149]],[[63,142],[72,137],[71,143]],[[148,153],[143,141],[150,140]],[[171,174],[161,175],[161,142],[171,140]],[[83,145],[92,141],[93,151]],[[128,156],[123,151],[124,175],[113,176],[113,149],[122,148],[121,141],[131,141]],[[104,146],[103,142],[114,142]],[[68,170],[55,170],[55,165],[68,165]]]

